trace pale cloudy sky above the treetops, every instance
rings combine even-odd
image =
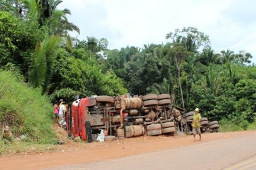
[[[166,43],[169,32],[196,27],[214,52],[245,50],[256,64],[255,7],[254,0],[63,0],[59,6],[81,31],[72,36],[106,38],[109,49]]]

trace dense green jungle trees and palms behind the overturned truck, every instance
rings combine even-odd
[[[256,67],[252,55],[211,48],[194,27],[166,32],[168,43],[109,49],[108,40],[68,22],[60,0],[1,1],[0,66],[15,72],[50,101],[74,96],[171,94],[186,110],[228,120],[246,129],[255,122]],[[145,42],[147,43],[147,42]],[[3,80],[1,80],[3,81]]]

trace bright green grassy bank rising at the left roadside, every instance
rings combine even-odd
[[[31,144],[55,144],[56,136],[51,129],[54,115],[47,97],[7,71],[0,70],[0,83],[0,132],[8,125],[13,133],[11,139],[0,136],[0,154],[15,146],[19,149]],[[26,139],[15,141],[21,134]]]

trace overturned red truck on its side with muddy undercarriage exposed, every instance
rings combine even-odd
[[[188,133],[188,122],[180,112],[171,105],[169,94],[86,97],[68,105],[67,132],[88,142],[101,129],[105,135],[118,139],[175,131]]]

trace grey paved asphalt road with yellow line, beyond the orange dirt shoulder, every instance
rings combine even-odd
[[[256,133],[161,152],[50,169],[256,169]],[[156,144],[157,145],[157,144]],[[99,154],[100,155],[100,154]]]

